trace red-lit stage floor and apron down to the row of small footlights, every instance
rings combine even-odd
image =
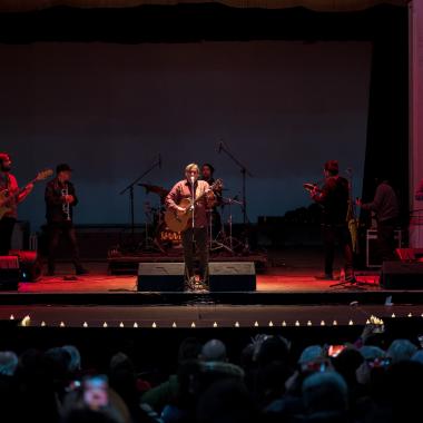
[[[87,263],[88,275],[73,275],[70,263],[56,276],[20,283],[0,294],[0,319],[12,316],[37,327],[259,328],[364,325],[381,318],[420,316],[423,291],[387,291],[378,272],[357,272],[356,283],[316,281],[318,256],[270,257],[256,275],[256,292],[137,292],[136,275],[110,275],[108,263]],[[287,262],[285,262],[285,258]],[[308,265],[305,264],[308,263]]]

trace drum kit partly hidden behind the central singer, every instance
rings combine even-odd
[[[159,250],[161,253],[168,253],[171,248],[181,248],[180,233],[170,230],[164,219],[166,212],[165,199],[169,194],[169,190],[149,184],[138,184],[138,186],[146,189],[146,194],[153,193],[159,196],[160,206],[151,207],[149,201],[144,204],[145,213],[145,239],[141,243],[141,249],[144,250]],[[236,253],[243,244],[233,236],[233,206],[243,206],[243,201],[238,200],[237,196],[234,198],[222,197],[217,205],[209,209],[208,222],[208,236],[209,236],[209,250],[225,250],[228,253]],[[227,207],[227,218],[225,225],[225,207]],[[217,209],[220,209],[220,213]],[[153,228],[149,235],[149,227]],[[226,227],[226,228],[225,228]]]

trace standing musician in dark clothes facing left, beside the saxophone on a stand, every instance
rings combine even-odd
[[[348,210],[348,181],[338,175],[337,160],[328,160],[324,165],[325,184],[322,189],[312,190],[312,198],[323,206],[323,242],[325,249],[324,274],[317,279],[332,281],[335,243],[337,242],[344,254],[345,279],[354,282],[353,249],[351,234],[346,223]]]

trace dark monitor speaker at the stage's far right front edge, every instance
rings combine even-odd
[[[386,289],[423,289],[423,263],[384,262],[381,286]]]

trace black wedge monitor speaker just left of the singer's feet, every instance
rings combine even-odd
[[[185,263],[139,263],[138,291],[183,292]]]

